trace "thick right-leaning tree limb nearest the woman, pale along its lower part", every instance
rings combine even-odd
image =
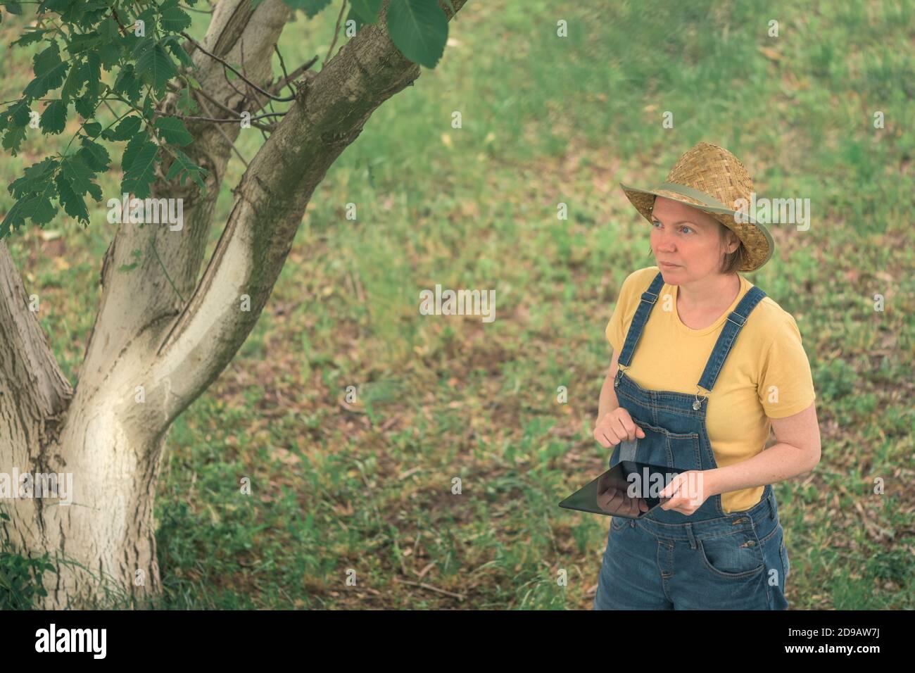
[[[465,2],[453,0],[456,11]],[[377,26],[362,27],[309,78],[234,190],[210,263],[157,351],[151,375],[170,381],[167,423],[210,386],[253,329],[328,167],[371,114],[419,76],[388,37],[386,10],[387,2]]]

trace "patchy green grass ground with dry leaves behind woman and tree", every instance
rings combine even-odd
[[[289,68],[324,57],[336,16],[286,27]],[[8,48],[22,25],[0,26],[0,100],[31,78]],[[619,182],[661,181],[708,140],[759,194],[811,200],[810,229],[772,225],[775,256],[748,275],[797,320],[821,423],[816,470],[775,486],[791,608],[915,608],[915,3],[470,0],[449,35],[328,170],[257,327],[172,428],[161,606],[590,609],[609,521],[556,504],[608,461],[591,437],[604,328],[653,264]],[[69,137],[33,132],[0,182]],[[86,230],[9,242],[71,382],[117,226],[103,206]],[[495,289],[496,320],[419,315],[436,283]]]

